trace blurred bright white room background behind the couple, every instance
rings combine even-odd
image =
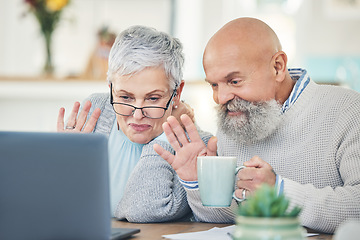
[[[215,134],[211,88],[202,52],[226,22],[257,17],[278,34],[288,67],[360,91],[360,0],[70,0],[51,39],[53,71],[44,72],[46,44],[29,11],[36,0],[0,0],[0,130],[56,131],[60,107],[108,91],[107,54],[114,36],[146,25],[184,45],[182,98],[198,125]],[[59,0],[61,2],[61,0]]]

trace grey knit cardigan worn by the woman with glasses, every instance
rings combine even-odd
[[[93,94],[86,99],[92,102],[89,115],[95,108],[101,109],[94,132],[107,136],[115,121],[109,96],[106,93]],[[200,135],[206,143],[211,137],[205,132]],[[191,214],[186,192],[176,172],[154,151],[155,143],[174,154],[169,143],[159,140],[153,140],[143,147],[140,160],[130,175],[123,198],[115,211],[115,217],[130,222],[165,222],[188,219]]]

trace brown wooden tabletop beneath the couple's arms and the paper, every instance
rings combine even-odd
[[[206,231],[213,227],[226,227],[229,224],[214,223],[194,223],[194,222],[175,222],[175,223],[129,223],[124,221],[112,221],[112,227],[115,228],[139,228],[140,233],[134,235],[131,239],[136,240],[165,240],[162,235]],[[312,232],[312,231],[309,231]],[[331,240],[332,235],[320,234],[309,237],[309,240]]]

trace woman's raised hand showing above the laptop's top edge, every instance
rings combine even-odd
[[[57,120],[57,131],[58,132],[83,132],[90,133],[94,130],[97,120],[100,117],[101,110],[96,108],[91,114],[89,120],[86,122],[87,115],[91,108],[91,102],[86,101],[80,114],[78,115],[80,109],[80,103],[75,102],[68,122],[64,127],[64,115],[65,108],[60,108],[58,120]],[[86,124],[85,124],[86,123]]]

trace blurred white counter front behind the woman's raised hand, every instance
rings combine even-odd
[[[56,131],[60,107],[66,118],[75,101],[108,91],[106,83],[84,81],[0,81],[0,130]]]

